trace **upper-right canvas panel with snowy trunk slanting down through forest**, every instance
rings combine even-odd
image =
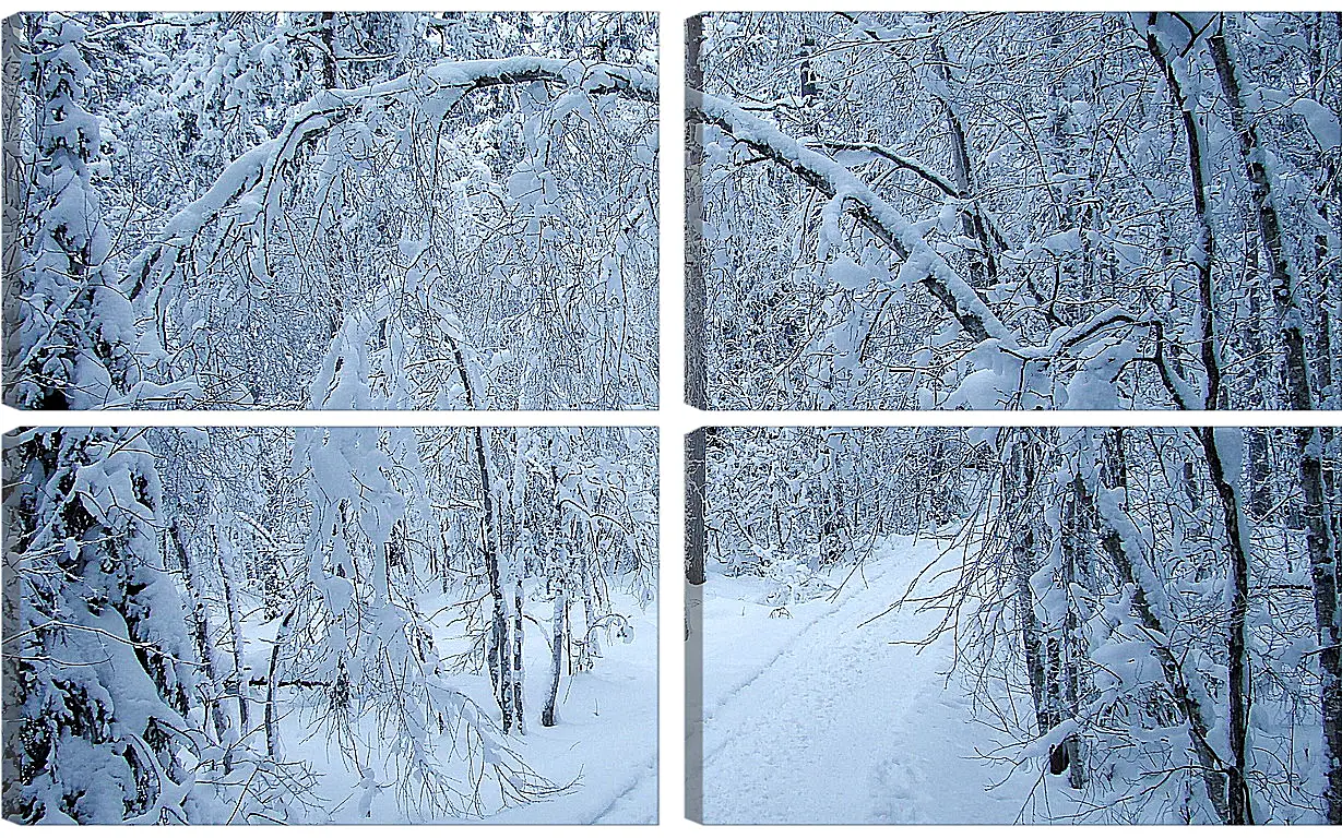
[[[710,13],[687,401],[1337,409],[1342,15]]]

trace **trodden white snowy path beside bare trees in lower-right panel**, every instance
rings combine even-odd
[[[854,575],[835,602],[770,619],[768,583],[710,579],[705,595],[705,821],[709,823],[1011,822],[1016,778],[973,756],[981,729],[941,673],[949,645],[922,654],[935,621],[911,609],[858,626],[898,598],[935,558],[927,540]],[[837,583],[837,579],[835,579]],[[790,625],[778,625],[790,623]]]

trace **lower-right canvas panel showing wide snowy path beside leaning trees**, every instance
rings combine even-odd
[[[690,817],[1342,822],[1338,457],[1311,493],[1300,436],[710,429]]]

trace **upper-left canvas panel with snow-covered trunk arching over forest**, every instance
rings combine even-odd
[[[4,21],[4,402],[658,404],[656,15]]]

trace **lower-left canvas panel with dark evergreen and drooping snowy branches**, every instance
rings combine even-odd
[[[4,445],[4,815],[656,821],[658,433]]]

